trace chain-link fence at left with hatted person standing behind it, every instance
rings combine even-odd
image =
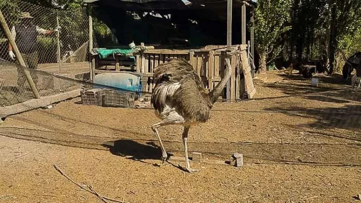
[[[0,10],[40,96],[59,94],[79,84],[65,84],[61,79],[32,69],[88,79],[89,24],[85,7],[52,9],[11,0],[0,3]],[[15,52],[11,50],[1,27],[0,106],[34,98],[21,66],[16,65]]]

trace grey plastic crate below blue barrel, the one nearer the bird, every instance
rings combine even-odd
[[[114,90],[106,90],[103,105],[115,107],[131,107],[134,106],[135,96],[136,95],[133,92],[119,93],[115,92]]]

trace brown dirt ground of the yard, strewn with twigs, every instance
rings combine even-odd
[[[75,99],[8,117],[0,125],[0,203],[102,202],[53,164],[128,203],[361,202],[361,91],[341,76],[317,77],[311,87],[300,75],[272,71],[255,79],[253,100],[217,102],[209,122],[190,129],[190,156],[229,160],[240,152],[244,165],[191,162],[200,169],[193,174],[179,161],[159,166],[151,108]],[[181,126],[159,133],[170,154],[183,156]]]

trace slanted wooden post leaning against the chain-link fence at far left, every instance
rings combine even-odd
[[[17,62],[22,66],[21,70],[23,71],[23,73],[24,73],[24,75],[26,77],[26,80],[29,83],[29,86],[30,86],[30,88],[31,88],[31,90],[32,90],[32,92],[34,94],[35,99],[40,99],[38,89],[36,89],[36,85],[35,85],[33,79],[31,78],[29,70],[24,68],[24,67],[26,67],[26,64],[25,64],[24,59],[22,58],[22,56],[20,54],[19,49],[17,48],[17,45],[16,45],[14,39],[12,38],[9,27],[7,27],[6,21],[4,19],[4,16],[2,15],[1,10],[0,10],[0,24],[1,24],[1,27],[2,27],[2,29],[4,31],[4,33],[5,33],[5,36],[6,36],[7,40],[9,41],[9,43],[10,43],[10,45],[12,47],[12,50],[15,53]]]

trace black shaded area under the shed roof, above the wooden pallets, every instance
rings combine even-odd
[[[226,45],[227,0],[189,1],[191,5],[182,0],[84,0],[84,3],[92,5],[93,15],[115,30],[121,45],[132,41],[137,45],[141,42],[179,43],[184,47]],[[241,44],[241,5],[233,0],[232,44]],[[247,15],[249,18],[249,8]]]

